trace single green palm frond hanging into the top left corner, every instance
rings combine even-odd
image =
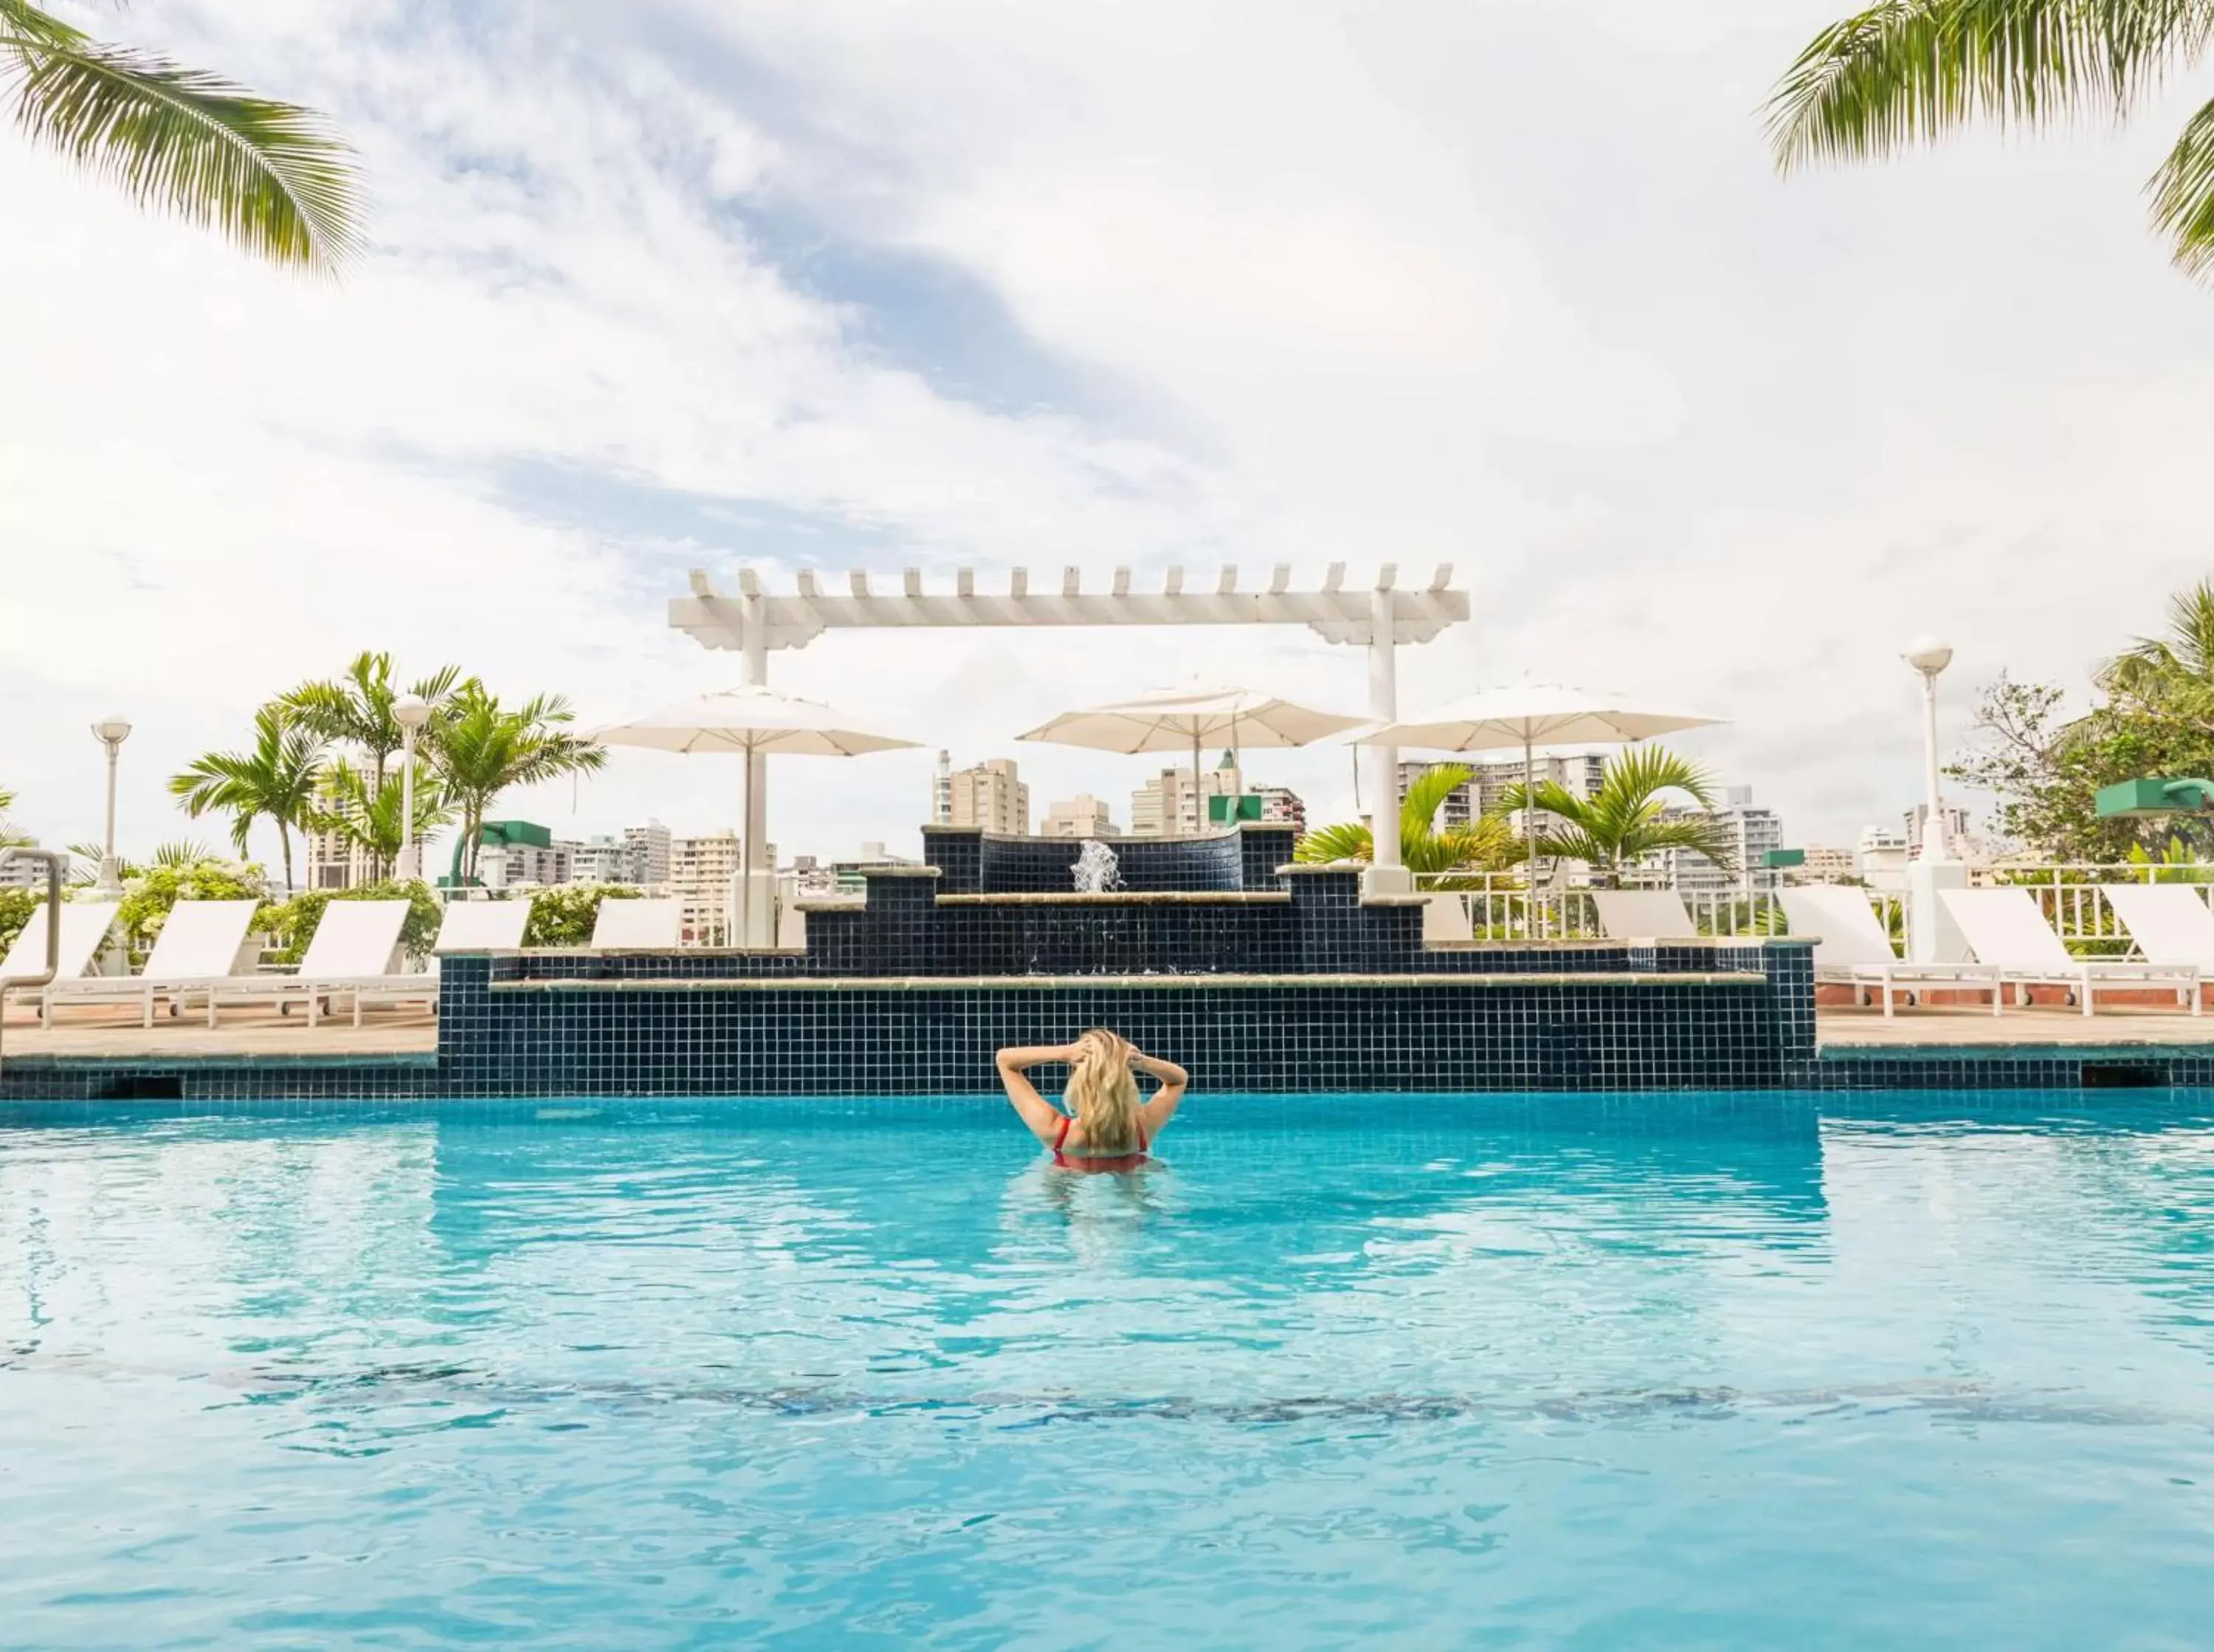
[[[31,0],[0,0],[0,89],[33,140],[257,257],[337,270],[359,244],[354,157],[314,111],[106,47]]]

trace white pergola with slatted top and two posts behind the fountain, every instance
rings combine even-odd
[[[899,589],[875,589],[870,576],[852,571],[844,589],[826,587],[813,571],[801,571],[793,596],[770,596],[757,571],[739,569],[737,591],[717,591],[702,571],[691,571],[691,596],[669,600],[669,624],[706,649],[731,649],[742,658],[739,680],[768,682],[768,655],[775,649],[804,649],[824,631],[870,631],[912,627],[976,624],[1304,624],[1326,642],[1355,642],[1368,649],[1368,715],[1393,722],[1399,715],[1399,673],[1395,651],[1401,642],[1428,642],[1448,624],[1468,618],[1468,593],[1450,589],[1452,565],[1444,562],[1426,587],[1401,587],[1399,569],[1386,562],[1366,589],[1346,587],[1346,565],[1331,562],[1322,587],[1291,589],[1291,567],[1280,562],[1269,571],[1266,589],[1240,591],[1238,569],[1224,567],[1213,587],[1204,578],[1189,582],[1184,569],[1165,571],[1158,591],[1134,591],[1131,574],[1118,567],[1105,591],[1085,591],[1078,569],[1067,567],[1061,580],[1032,585],[1030,569],[1012,569],[1007,589],[979,591],[976,569],[954,571],[952,591],[925,591],[921,569],[906,569]],[[1399,866],[1399,753],[1393,746],[1368,746],[1368,822],[1375,835],[1373,888],[1406,888]],[[748,764],[746,868],[766,822],[766,762]],[[753,943],[753,937],[748,937]]]

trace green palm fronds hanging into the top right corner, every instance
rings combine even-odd
[[[1893,155],[1973,120],[2117,120],[2214,35],[2210,0],[1882,0],[1818,33],[1769,97],[1789,173]],[[2214,102],[2145,184],[2187,275],[2214,272]]]

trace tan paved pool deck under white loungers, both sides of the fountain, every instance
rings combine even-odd
[[[2165,1012],[2021,1010],[1993,1016],[1979,1010],[1915,1010],[1886,1021],[1873,1010],[1824,1012],[1815,1032],[1824,1052],[1933,1052],[2037,1050],[2037,1047],[2214,1047],[2214,1014]],[[438,1023],[421,1012],[372,1012],[361,1028],[345,1019],[308,1028],[301,1016],[266,1010],[226,1012],[219,1028],[199,1021],[137,1025],[131,1012],[71,1016],[66,1025],[40,1028],[9,1016],[0,1039],[0,1061],[11,1056],[91,1061],[235,1061],[235,1059],[352,1059],[427,1056],[438,1047]]]

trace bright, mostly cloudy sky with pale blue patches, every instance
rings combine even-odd
[[[2141,202],[2205,84],[1780,179],[1758,109],[1829,4],[62,11],[328,111],[370,215],[303,279],[0,131],[0,788],[49,842],[100,833],[111,711],[124,850],[219,839],[164,779],[359,649],[587,724],[726,686],[666,627],[691,567],[1452,562],[1408,713],[1707,709],[1672,744],[1851,844],[1917,797],[1911,638],[1953,751],[2214,560],[2214,290]],[[779,760],[773,837],[912,853],[939,746],[1127,822],[1160,760],[1014,735],[1191,675],[1366,702],[1297,629],[832,633],[770,680],[925,744]],[[1246,773],[1353,810],[1344,748]],[[737,766],[498,813],[715,830]]]

